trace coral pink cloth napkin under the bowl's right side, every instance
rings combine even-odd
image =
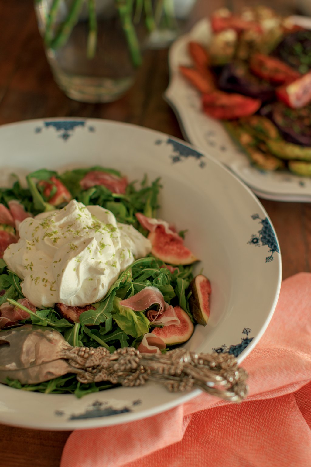
[[[283,281],[271,323],[242,366],[242,403],[201,394],[144,420],[73,432],[61,467],[310,467],[311,274]]]

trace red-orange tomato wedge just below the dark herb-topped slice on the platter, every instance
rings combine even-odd
[[[282,60],[259,53],[251,57],[249,69],[259,78],[280,85],[289,84],[301,76]]]

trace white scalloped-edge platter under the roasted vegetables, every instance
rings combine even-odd
[[[292,18],[295,23],[311,28],[311,18]],[[209,21],[200,20],[189,34],[173,43],[169,52],[170,84],[165,99],[176,113],[185,139],[225,164],[257,196],[278,201],[311,202],[311,178],[298,177],[289,171],[264,172],[256,169],[236,147],[221,122],[203,113],[199,92],[180,75],[178,67],[192,64],[187,53],[190,40],[208,45],[210,37]]]

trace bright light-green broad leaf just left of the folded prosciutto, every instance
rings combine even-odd
[[[121,298],[115,297],[113,305],[115,312],[112,318],[124,333],[132,337],[139,337],[149,332],[150,321],[142,311],[133,311],[127,306],[120,305]]]

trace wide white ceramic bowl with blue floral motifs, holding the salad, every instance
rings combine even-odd
[[[94,119],[2,126],[0,147],[2,185],[12,171],[23,175],[42,167],[100,164],[130,180],[160,176],[159,217],[188,229],[186,245],[201,259],[197,271],[204,267],[212,284],[208,324],[195,327],[186,347],[229,351],[242,361],[256,345],[276,306],[281,257],[263,206],[220,163],[166,134]],[[0,422],[54,430],[107,426],[148,417],[199,393],[172,394],[148,383],[77,399],[0,385]]]

